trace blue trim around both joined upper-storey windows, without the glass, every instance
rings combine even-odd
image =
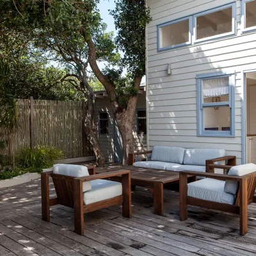
[[[244,1],[244,0],[242,0],[242,1]],[[221,35],[216,35],[216,36],[211,36],[211,37],[207,37],[207,38],[202,38],[200,40],[195,40],[195,27],[196,27],[195,18],[198,16],[201,16],[201,15],[207,14],[207,13],[212,13],[212,12],[216,12],[218,10],[223,10],[225,8],[228,8],[229,6],[232,6],[232,32],[221,34]],[[190,34],[189,42],[184,43],[184,44],[177,44],[177,45],[160,48],[160,38],[161,38],[160,37],[160,29],[163,28],[164,26],[168,26],[170,24],[177,23],[179,21],[186,20],[186,19],[189,19],[189,34]],[[205,10],[204,12],[194,13],[189,16],[182,17],[180,19],[170,20],[168,22],[158,24],[157,25],[157,52],[175,49],[177,47],[199,44],[201,42],[205,42],[205,41],[209,41],[209,40],[216,40],[216,39],[220,39],[220,38],[226,38],[226,37],[230,37],[230,36],[234,36],[234,35],[236,35],[236,2],[232,1],[232,3],[224,4],[224,5],[221,5],[216,8],[211,8],[209,10]]]

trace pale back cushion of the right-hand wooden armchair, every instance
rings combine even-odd
[[[228,175],[243,176],[252,172],[256,172],[256,164],[241,164],[230,168]],[[236,180],[226,180],[224,191],[236,195],[239,189],[239,182]]]

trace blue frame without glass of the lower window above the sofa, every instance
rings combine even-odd
[[[220,103],[203,103],[202,81],[205,79],[215,79],[219,77],[229,77],[229,100]],[[198,137],[235,137],[236,136],[236,113],[235,113],[235,93],[236,93],[235,73],[227,74],[223,72],[214,72],[211,74],[202,74],[196,76],[196,123]],[[230,131],[204,131],[204,108],[214,106],[230,107]]]

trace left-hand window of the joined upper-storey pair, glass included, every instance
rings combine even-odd
[[[190,17],[159,25],[159,49],[191,44],[191,30]]]

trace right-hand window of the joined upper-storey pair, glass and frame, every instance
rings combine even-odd
[[[235,34],[235,4],[194,15],[194,42]]]

